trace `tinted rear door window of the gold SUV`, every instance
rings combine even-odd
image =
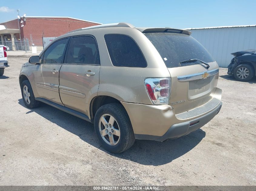
[[[95,39],[90,36],[72,37],[67,51],[68,64],[100,64]]]

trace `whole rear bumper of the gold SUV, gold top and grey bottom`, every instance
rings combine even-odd
[[[221,109],[221,89],[215,87],[212,99],[187,112],[175,114],[170,105],[121,102],[128,113],[136,139],[165,141],[178,138],[208,123]]]

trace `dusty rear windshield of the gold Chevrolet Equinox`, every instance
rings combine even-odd
[[[208,51],[193,37],[170,32],[144,33],[158,50],[167,68],[194,65],[182,63],[189,59],[199,59],[204,62],[214,62]]]

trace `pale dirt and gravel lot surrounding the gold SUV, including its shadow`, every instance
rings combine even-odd
[[[0,77],[0,185],[256,185],[256,78],[220,69],[220,113],[166,142],[136,140],[122,154],[101,148],[91,123],[46,104],[27,109],[8,57]]]

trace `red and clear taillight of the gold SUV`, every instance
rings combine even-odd
[[[168,104],[170,98],[170,78],[146,78],[148,97],[154,104]]]

